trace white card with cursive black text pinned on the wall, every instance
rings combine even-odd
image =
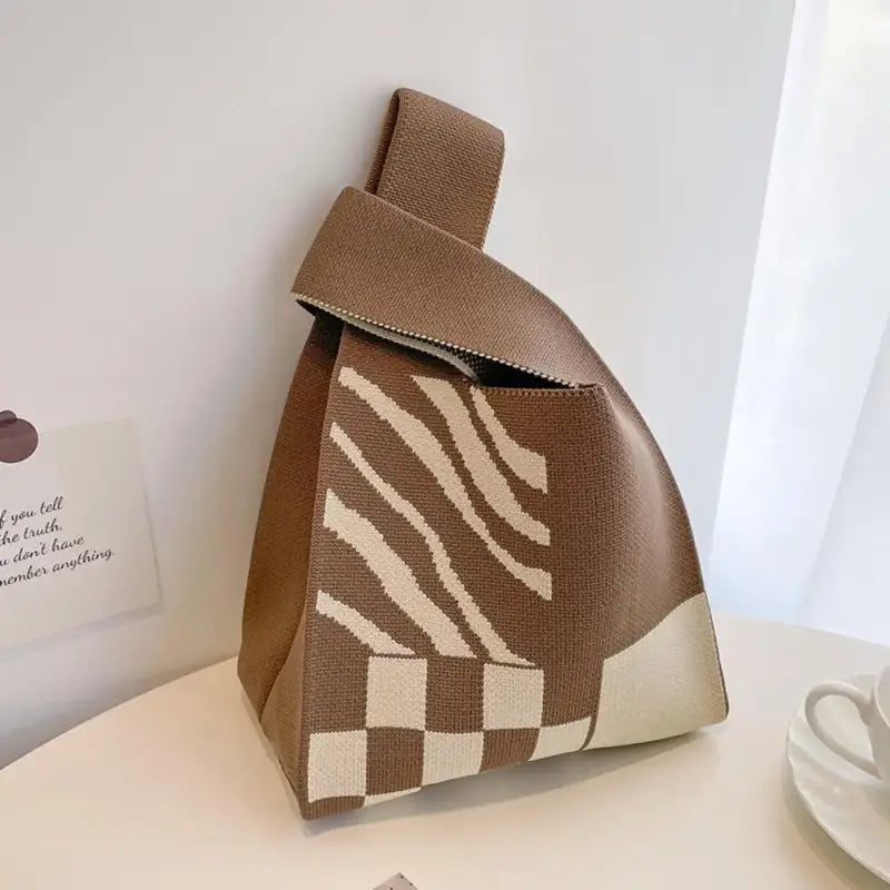
[[[0,463],[0,647],[159,599],[128,421],[41,433],[30,457]]]

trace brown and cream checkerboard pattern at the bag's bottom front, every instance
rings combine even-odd
[[[374,655],[365,725],[309,735],[308,801],[364,805],[423,785],[578,751],[590,718],[544,725],[544,671]]]

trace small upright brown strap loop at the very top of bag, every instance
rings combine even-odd
[[[416,90],[393,95],[365,189],[462,241],[482,247],[504,134]]]

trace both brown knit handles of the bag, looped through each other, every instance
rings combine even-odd
[[[413,90],[393,98],[367,189],[346,188],[294,283],[312,312],[561,386],[614,384],[544,294],[482,253],[500,130]]]

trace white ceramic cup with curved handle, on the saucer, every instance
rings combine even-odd
[[[860,719],[869,731],[871,759],[851,751],[833,738],[820,722],[817,705],[828,695],[841,695],[856,705]],[[860,770],[890,784],[890,668],[876,678],[870,693],[862,692],[850,683],[834,681],[820,683],[810,690],[804,712],[807,722],[824,745]]]

